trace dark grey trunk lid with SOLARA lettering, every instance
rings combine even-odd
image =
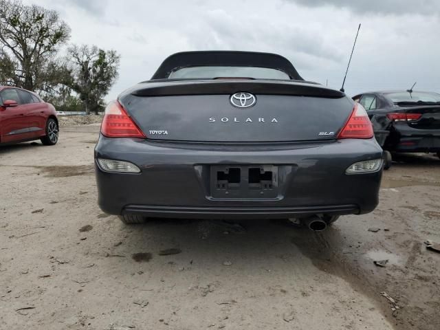
[[[252,107],[232,105],[252,93]],[[340,91],[261,80],[143,83],[119,98],[149,139],[188,142],[332,140],[353,110]]]

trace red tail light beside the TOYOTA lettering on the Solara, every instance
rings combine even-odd
[[[111,101],[105,108],[101,133],[107,137],[146,137],[118,101]]]

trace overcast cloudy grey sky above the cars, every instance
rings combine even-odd
[[[249,50],[287,57],[307,80],[349,95],[375,89],[440,92],[439,0],[25,0],[57,10],[71,43],[121,54],[108,100],[175,52]]]

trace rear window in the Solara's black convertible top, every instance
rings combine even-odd
[[[255,78],[255,79],[283,79],[290,77],[285,72],[268,67],[181,67],[171,72],[170,79],[185,78]]]

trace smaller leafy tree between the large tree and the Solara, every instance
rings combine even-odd
[[[84,102],[86,113],[102,109],[102,98],[107,95],[118,78],[120,56],[114,51],[104,51],[96,46],[73,45],[68,50],[72,63],[70,87]]]

